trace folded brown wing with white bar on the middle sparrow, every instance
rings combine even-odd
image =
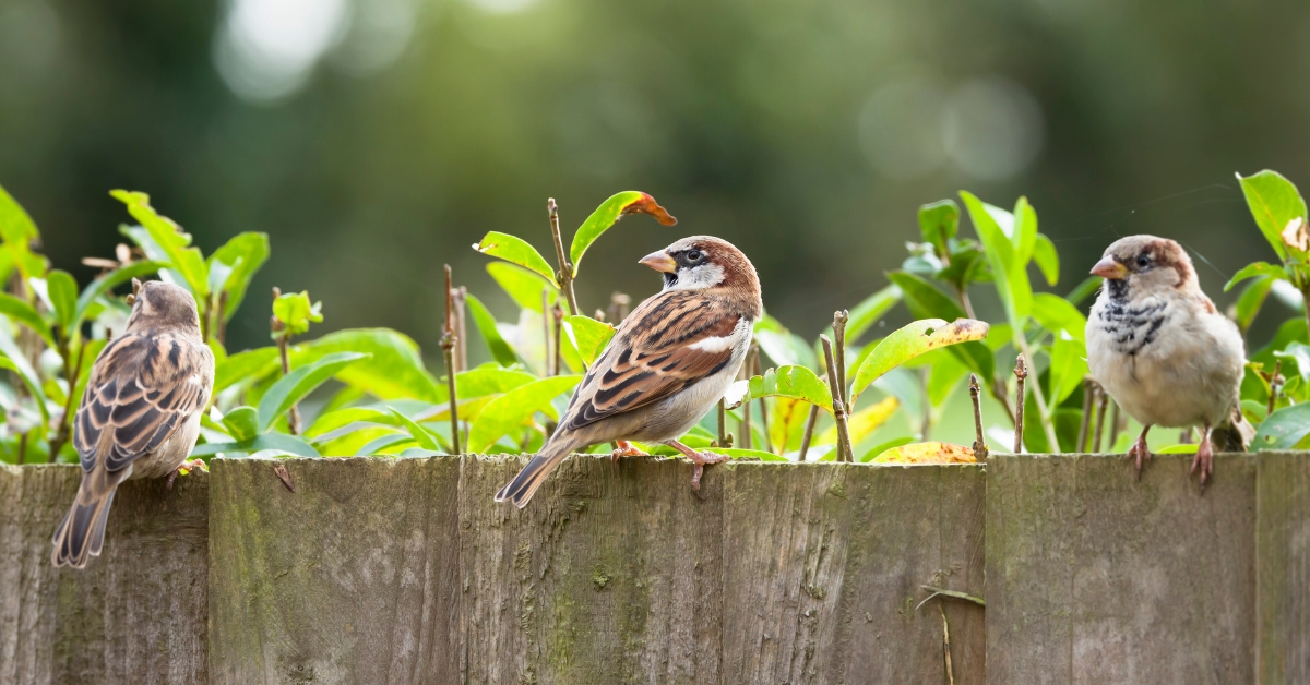
[[[689,291],[646,300],[587,372],[561,426],[578,430],[713,376],[732,360],[740,318]]]

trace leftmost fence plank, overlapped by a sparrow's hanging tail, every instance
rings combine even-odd
[[[0,684],[206,681],[208,478],[128,481],[105,547],[55,568],[72,465],[0,465]]]

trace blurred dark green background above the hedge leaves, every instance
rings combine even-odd
[[[443,262],[510,318],[469,245],[550,254],[548,196],[571,232],[629,189],[680,223],[604,237],[586,310],[650,295],[635,259],[713,233],[808,338],[960,189],[1030,198],[1057,292],[1149,232],[1207,258],[1226,305],[1272,257],[1233,173],[1310,178],[1307,37],[1292,0],[0,0],[0,185],[80,280],[119,242],[113,187],[206,251],[270,233],[232,350],[266,344],[280,286],[324,300],[320,331],[392,326],[435,361]]]

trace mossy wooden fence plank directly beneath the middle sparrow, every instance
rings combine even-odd
[[[572,457],[524,509],[525,461],[465,457],[462,634],[473,684],[718,682],[722,468]]]

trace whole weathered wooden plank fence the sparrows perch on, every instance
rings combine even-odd
[[[984,466],[215,460],[121,489],[0,468],[0,685],[1310,682],[1310,458]],[[274,474],[287,468],[296,491]],[[938,587],[986,609],[934,599]]]

